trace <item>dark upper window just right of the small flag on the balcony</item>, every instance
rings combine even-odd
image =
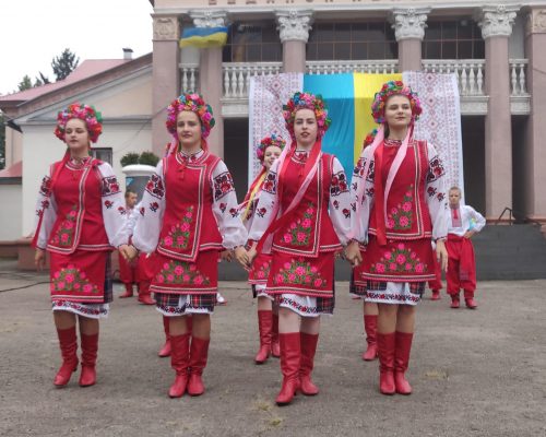
[[[274,22],[235,22],[229,26],[224,62],[275,62],[283,60],[283,45]]]

